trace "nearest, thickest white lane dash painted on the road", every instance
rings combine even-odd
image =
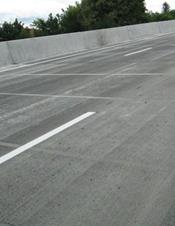
[[[92,116],[94,114],[95,114],[95,112],[87,112],[87,113],[85,113],[85,114],[73,119],[72,121],[70,121],[70,122],[68,122],[68,123],[56,128],[56,129],[52,130],[52,131],[44,134],[44,135],[36,138],[35,140],[33,140],[33,141],[31,141],[31,142],[29,142],[29,143],[27,143],[27,144],[25,144],[25,145],[23,145],[21,147],[9,152],[8,154],[0,157],[0,164],[2,164],[4,162],[16,157],[17,155],[19,155],[19,154],[29,150],[30,148],[32,148],[32,147],[44,142],[45,140],[48,140],[49,138],[55,136],[56,134],[59,134],[59,133],[63,132],[64,130],[72,127],[73,125],[83,121],[84,119],[86,119],[86,118],[88,118],[88,117],[90,117],[90,116]]]

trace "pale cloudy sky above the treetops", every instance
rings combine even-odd
[[[25,24],[30,24],[35,18],[46,18],[49,13],[56,14],[76,0],[0,0],[0,22],[19,18]],[[132,0],[131,0],[132,1]],[[161,11],[165,0],[146,0],[148,10]],[[175,8],[175,0],[166,0],[171,8]]]

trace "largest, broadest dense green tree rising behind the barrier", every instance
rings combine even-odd
[[[82,0],[86,29],[142,23],[145,11],[144,0]]]

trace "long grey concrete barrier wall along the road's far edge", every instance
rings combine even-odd
[[[62,56],[173,32],[175,20],[2,42],[0,66]]]

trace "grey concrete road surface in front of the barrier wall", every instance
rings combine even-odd
[[[0,225],[175,225],[174,37],[0,70]]]

